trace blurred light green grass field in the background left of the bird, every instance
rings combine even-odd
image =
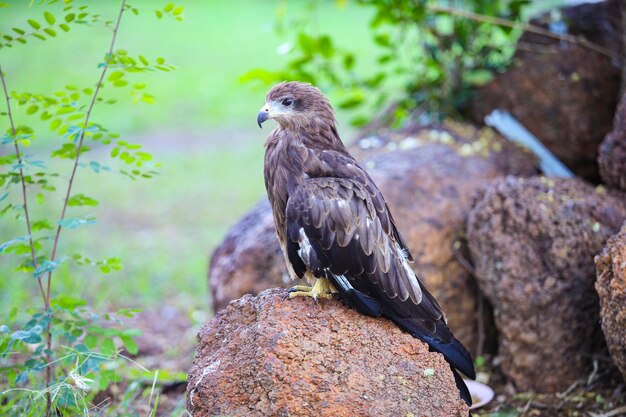
[[[92,259],[119,257],[124,268],[102,275],[96,268],[65,262],[55,272],[53,293],[85,297],[96,308],[118,306],[149,308],[170,304],[185,311],[206,309],[209,254],[227,228],[264,196],[262,143],[269,132],[256,126],[256,113],[263,104],[267,86],[242,84],[239,77],[253,68],[277,69],[287,59],[277,47],[291,41],[291,33],[278,35],[272,29],[276,13],[287,7],[287,18],[304,13],[306,2],[183,1],[185,20],[158,20],[153,1],[132,4],[142,13],[127,13],[122,21],[118,48],[149,59],[163,56],[178,69],[172,73],[142,76],[156,97],[153,105],[130,102],[118,91],[103,96],[119,97],[114,106],[97,105],[93,120],[122,137],[138,142],[161,163],[160,175],[131,181],[118,174],[78,172],[75,192],[100,201],[98,207],[70,208],[70,217],[93,214],[98,223],[61,235],[60,253],[81,253]],[[26,19],[42,20],[43,8],[29,2],[10,2],[0,8],[0,33],[25,26]],[[106,19],[114,19],[117,2],[90,3]],[[313,17],[321,32],[335,36],[339,44],[365,57],[373,46],[367,33],[369,11],[349,4],[319,4]],[[349,22],[349,24],[346,24]],[[0,49],[0,64],[11,91],[51,93],[67,84],[93,86],[110,41],[110,31],[94,25],[79,27],[46,42]],[[4,105],[0,108],[4,111]],[[61,138],[49,133],[47,123],[16,109],[18,123],[37,128],[36,138],[25,151],[46,155]],[[339,114],[345,120],[344,114]],[[344,137],[350,133],[345,128]],[[2,129],[8,127],[3,117]],[[0,154],[12,152],[0,147]],[[108,151],[94,151],[86,161],[107,162]],[[112,164],[114,165],[114,164]],[[64,177],[67,161],[54,163]],[[65,187],[65,179],[57,183]],[[18,188],[10,199],[19,201]],[[62,197],[51,195],[32,210],[54,220]],[[0,218],[0,241],[25,235],[23,223]],[[37,288],[28,274],[15,272],[16,258],[0,258],[0,311],[13,307],[38,307]]]

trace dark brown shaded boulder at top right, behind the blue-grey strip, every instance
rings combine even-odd
[[[475,120],[511,112],[577,175],[598,181],[598,146],[611,129],[620,89],[623,47],[619,1],[567,8],[569,34],[586,37],[614,57],[587,46],[525,33],[511,68],[477,91]],[[534,21],[552,26],[549,18]]]

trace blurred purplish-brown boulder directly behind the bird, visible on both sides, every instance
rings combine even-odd
[[[457,260],[472,195],[490,179],[535,173],[534,160],[491,129],[451,122],[364,138],[352,151],[382,190],[414,269],[446,311],[455,335],[475,353],[481,339],[478,291]],[[263,203],[231,229],[213,255],[214,306],[284,285],[284,262],[269,205]],[[483,327],[489,332],[493,324]]]

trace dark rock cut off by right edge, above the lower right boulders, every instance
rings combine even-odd
[[[615,113],[613,130],[604,138],[599,153],[602,181],[626,191],[626,95]]]

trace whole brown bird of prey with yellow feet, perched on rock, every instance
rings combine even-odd
[[[368,316],[385,316],[475,377],[470,354],[454,337],[435,298],[415,275],[411,254],[374,181],[348,153],[332,106],[310,84],[274,86],[258,114],[278,124],[265,142],[265,187],[280,246],[296,285],[289,297],[331,298]],[[455,369],[456,368],[456,369]]]

